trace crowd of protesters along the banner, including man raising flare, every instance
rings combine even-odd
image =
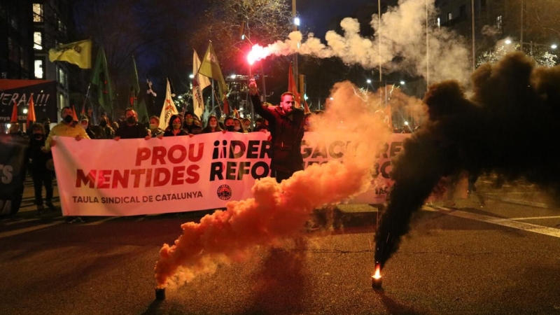
[[[37,205],[38,214],[43,214],[45,205],[51,211],[55,207],[52,204],[52,181],[55,176],[54,165],[52,163],[52,153],[50,148],[55,146],[56,141],[53,136],[74,137],[80,139],[141,139],[146,140],[163,137],[194,137],[196,134],[206,134],[209,132],[269,132],[269,141],[273,144],[278,143],[272,154],[272,170],[273,176],[280,182],[288,179],[294,172],[302,169],[303,163],[299,143],[303,137],[303,133],[309,130],[311,119],[314,115],[320,115],[322,111],[311,113],[298,106],[295,111],[292,106],[294,96],[291,93],[284,93],[281,97],[279,106],[272,106],[269,103],[260,103],[258,93],[252,82],[251,99],[255,109],[260,117],[255,119],[254,125],[249,118],[239,117],[237,111],[234,116],[226,116],[218,118],[218,116],[210,115],[207,122],[203,125],[199,117],[195,113],[186,111],[171,116],[165,129],[160,128],[160,118],[151,116],[149,125],[139,123],[137,112],[129,108],[125,110],[125,119],[119,122],[111,123],[108,116],[99,116],[98,124],[93,123],[91,117],[92,112],[82,114],[76,120],[76,113],[66,106],[60,112],[62,120],[60,123],[50,128],[50,120],[45,119],[42,123],[34,123],[27,130],[29,136],[29,149],[27,158],[29,162],[29,174],[34,183],[35,203]],[[283,104],[286,103],[286,104]],[[296,117],[297,116],[297,117]],[[266,118],[266,119],[265,119]],[[297,118],[297,119],[295,119]],[[271,123],[272,120],[272,123]],[[409,133],[412,132],[408,125],[402,130],[394,130],[394,132]],[[19,130],[18,123],[13,123],[10,127],[10,134],[23,135]],[[45,198],[42,197],[43,186],[45,187]],[[69,217],[67,222],[80,222],[83,218]]]

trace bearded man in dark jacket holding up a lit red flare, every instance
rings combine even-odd
[[[295,97],[285,92],[280,97],[279,106],[262,106],[255,79],[249,81],[251,101],[262,118],[269,122],[272,136],[272,176],[280,183],[293,173],[303,169],[301,143],[303,138],[304,111],[295,106]]]

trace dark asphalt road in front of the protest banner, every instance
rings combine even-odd
[[[153,267],[206,213],[36,216],[32,188],[0,218],[0,314],[560,314],[560,211],[533,186],[426,205],[372,290],[377,213],[339,207],[343,228],[304,232],[220,265],[155,300]]]

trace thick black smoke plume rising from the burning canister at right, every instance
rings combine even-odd
[[[535,67],[521,52],[472,73],[474,94],[456,81],[430,86],[428,120],[393,163],[386,212],[375,236],[381,266],[398,250],[410,216],[442,176],[498,174],[526,179],[560,200],[560,160],[551,136],[560,123],[560,66]]]

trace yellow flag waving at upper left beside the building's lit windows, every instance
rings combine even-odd
[[[65,61],[76,64],[81,69],[91,69],[92,67],[92,41],[76,41],[58,45],[48,51],[48,59],[50,62]]]

